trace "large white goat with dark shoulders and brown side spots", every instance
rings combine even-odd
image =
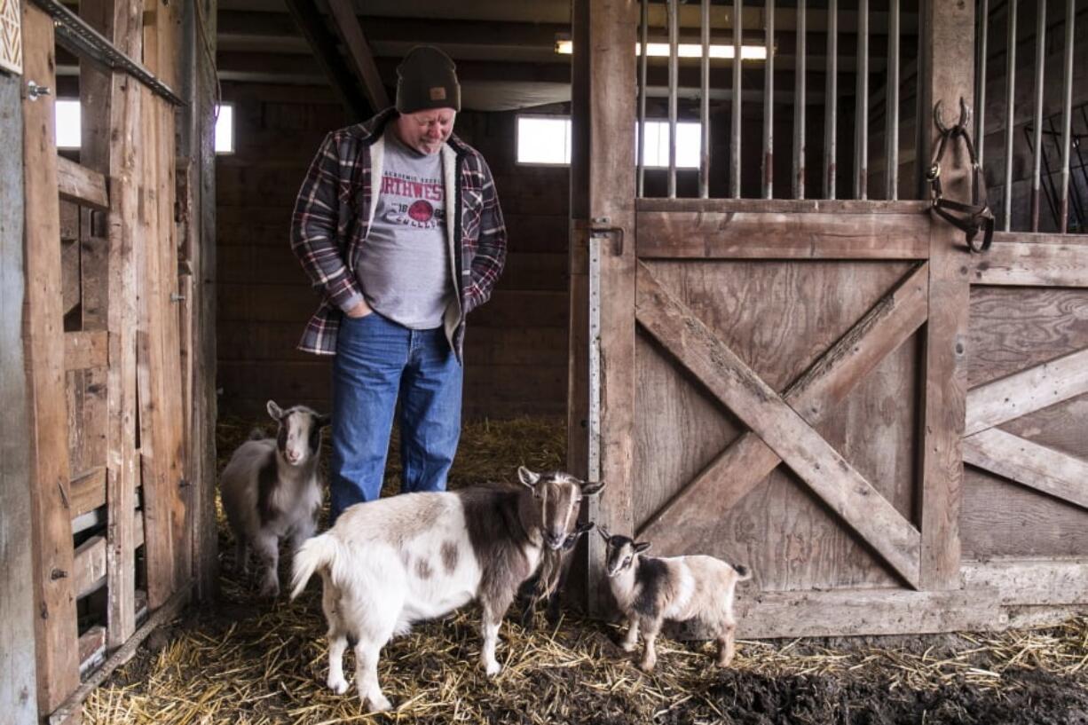
[[[378,655],[413,622],[478,600],[483,609],[480,660],[500,671],[495,642],[518,586],[541,560],[558,555],[583,495],[603,483],[567,474],[518,469],[521,487],[480,486],[405,493],[350,506],[336,525],[295,554],[292,598],[316,572],[329,622],[329,687],[347,691],[343,658],[356,658],[359,698],[371,712],[390,709],[378,684]]]

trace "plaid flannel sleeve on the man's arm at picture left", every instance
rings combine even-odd
[[[338,239],[339,169],[336,138],[329,134],[313,157],[295,201],[290,249],[314,288],[347,311],[362,299],[362,292],[344,261]]]

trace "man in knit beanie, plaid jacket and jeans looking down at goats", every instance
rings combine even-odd
[[[459,110],[453,61],[413,48],[396,107],[329,134],[298,194],[292,248],[322,298],[298,347],[335,355],[330,525],[380,495],[398,398],[403,491],[445,489],[457,451],[465,318],[506,258]]]

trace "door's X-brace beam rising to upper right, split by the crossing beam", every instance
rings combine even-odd
[[[929,269],[919,266],[866,312],[806,370],[782,397],[816,426],[889,353],[926,321]],[[759,484],[781,458],[758,435],[747,431],[647,517],[638,537],[663,552],[682,553],[697,545],[741,499]],[[697,502],[697,503],[694,503]]]

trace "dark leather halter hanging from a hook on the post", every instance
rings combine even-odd
[[[934,153],[932,163],[926,172],[926,180],[929,182],[932,205],[930,211],[945,220],[956,229],[962,230],[967,235],[967,247],[974,253],[986,251],[993,241],[993,212],[990,210],[989,195],[986,191],[986,180],[982,177],[982,168],[978,163],[975,155],[975,146],[967,135],[967,121],[970,119],[970,111],[963,98],[960,98],[960,121],[951,126],[944,125],[941,118],[941,102],[934,106],[934,123],[941,134],[937,152]],[[941,187],[941,158],[950,140],[963,138],[967,146],[967,156],[970,159],[972,183],[970,204],[953,201],[944,198]],[[979,200],[981,198],[981,201]],[[975,237],[982,232],[981,243],[976,243]]]

